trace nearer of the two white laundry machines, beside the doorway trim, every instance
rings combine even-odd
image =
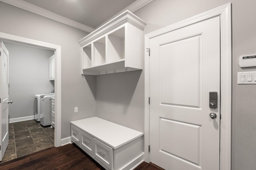
[[[44,94],[40,96],[40,125],[43,127],[52,124],[52,98],[54,95]]]

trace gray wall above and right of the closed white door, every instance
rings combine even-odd
[[[256,53],[256,1],[154,0],[134,14],[146,21],[144,33],[149,33],[229,2],[232,3],[232,170],[253,170],[256,167],[256,85],[238,85],[237,72],[256,71],[256,67],[238,66],[241,55]]]

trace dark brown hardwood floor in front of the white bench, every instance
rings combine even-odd
[[[51,147],[0,164],[0,170],[104,170],[100,164],[74,144]],[[162,170],[142,162],[135,170]]]

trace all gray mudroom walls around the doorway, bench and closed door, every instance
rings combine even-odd
[[[256,53],[256,1],[154,0],[135,14],[146,21],[144,33],[149,33],[228,2],[232,3],[233,26],[232,170],[251,170],[256,167],[256,85],[237,85],[236,76],[240,71],[256,70],[255,67],[244,70],[238,66],[240,55]],[[1,32],[62,46],[62,138],[70,135],[70,120],[95,115],[95,99],[97,116],[143,131],[143,71],[83,77],[77,41],[86,32],[3,2],[0,2],[0,21],[5,21],[4,26],[1,24]],[[123,90],[127,90],[127,94]],[[73,113],[75,106],[78,106],[77,114]]]

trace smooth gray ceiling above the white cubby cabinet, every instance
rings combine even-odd
[[[23,0],[92,28],[136,0]]]

